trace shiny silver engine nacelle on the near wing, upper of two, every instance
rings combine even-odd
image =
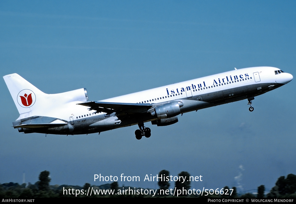
[[[181,113],[180,107],[182,106],[183,103],[172,101],[170,103],[155,107],[155,111],[151,112],[151,115],[156,115],[158,119],[175,117]]]

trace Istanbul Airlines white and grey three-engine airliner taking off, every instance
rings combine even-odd
[[[254,97],[287,84],[292,74],[275,67],[250,67],[185,82],[89,101],[85,88],[46,94],[18,74],[3,76],[20,116],[13,127],[23,133],[76,135],[101,133],[138,125],[136,139],[149,138],[144,123],[166,126],[178,115],[247,99],[253,111]]]

